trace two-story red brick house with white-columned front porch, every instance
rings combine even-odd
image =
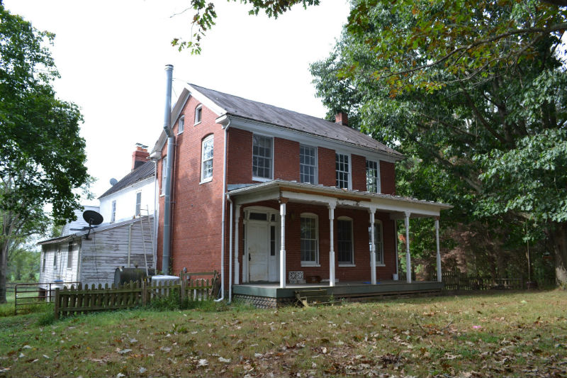
[[[285,289],[295,272],[330,287],[395,278],[396,220],[451,206],[395,196],[403,155],[347,123],[188,85],[170,125],[171,271],[219,270],[229,297],[233,285],[242,295],[254,282]],[[162,193],[166,155],[162,133],[152,151]],[[163,209],[161,196],[158,268]]]

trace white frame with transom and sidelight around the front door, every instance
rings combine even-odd
[[[265,213],[266,214],[266,221],[258,221],[254,219],[249,219],[250,213]],[[248,256],[248,235],[247,235],[247,224],[249,223],[267,223],[267,233],[266,239],[268,241],[268,282],[272,282],[270,279],[271,273],[275,274],[276,277],[279,278],[279,253],[280,253],[280,244],[281,244],[281,216],[279,215],[279,210],[273,209],[271,207],[266,206],[247,206],[244,208],[244,216],[242,218],[242,224],[245,226],[245,232],[243,233],[242,237],[244,238],[243,243],[243,251],[242,251],[242,283],[250,282],[249,274],[250,274],[250,267],[249,267],[249,256]],[[271,247],[271,240],[270,240],[270,228],[271,226],[276,227],[276,240],[275,240],[275,255],[270,255],[269,248]],[[276,281],[274,281],[276,282]]]

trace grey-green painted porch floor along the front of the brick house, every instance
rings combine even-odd
[[[279,282],[258,282],[232,286],[232,293],[242,296],[263,296],[269,298],[293,298],[295,291],[301,289],[326,289],[335,298],[383,296],[391,294],[426,294],[441,291],[442,282],[416,281],[408,284],[405,281],[381,280],[375,285],[362,281],[337,282],[330,287],[328,282],[319,284],[286,284],[285,289],[279,287]]]

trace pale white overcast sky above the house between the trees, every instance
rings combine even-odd
[[[55,89],[82,109],[96,197],[112,177],[130,172],[135,143],[152,148],[162,131],[166,64],[174,65],[174,100],[192,82],[325,116],[308,68],[327,57],[349,13],[347,0],[324,0],[274,20],[249,16],[240,2],[217,0],[217,25],[201,43],[202,54],[191,56],[170,45],[191,35],[192,11],[170,18],[188,0],[4,0],[4,6],[56,34],[51,51],[61,79]]]

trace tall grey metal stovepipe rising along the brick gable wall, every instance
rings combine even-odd
[[[167,135],[167,156],[165,169],[165,198],[164,198],[164,245],[162,256],[162,272],[169,274],[169,255],[172,244],[171,231],[171,207],[172,207],[172,171],[175,152],[175,136],[169,125],[172,123],[172,76],[173,65],[165,66],[165,74],[167,77],[165,89],[165,113],[164,113],[164,132]],[[162,172],[164,174],[164,172]]]

